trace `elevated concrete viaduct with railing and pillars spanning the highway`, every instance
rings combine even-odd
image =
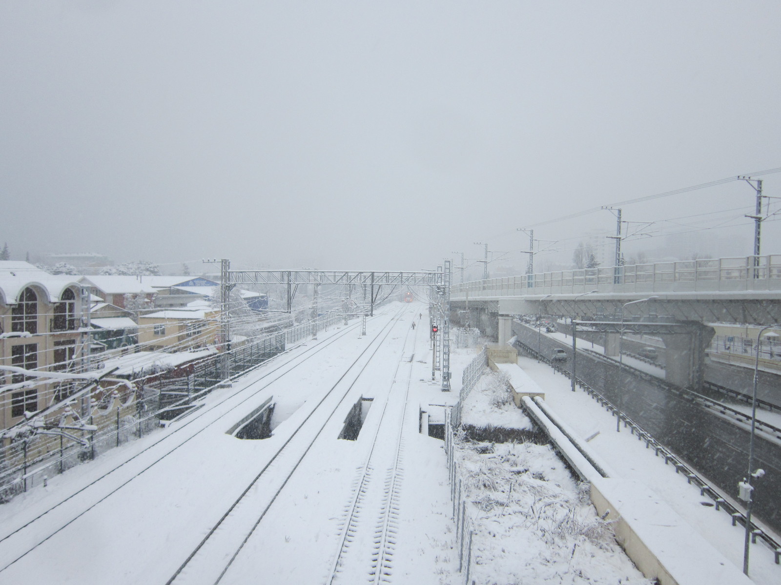
[[[604,332],[608,356],[618,353],[620,331],[657,335],[672,350],[667,381],[696,388],[714,335],[708,323],[781,322],[781,254],[491,278],[453,285],[450,301],[455,314],[495,316],[500,343],[517,314],[601,322],[591,328]]]

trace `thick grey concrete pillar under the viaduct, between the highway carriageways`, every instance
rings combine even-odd
[[[715,330],[697,321],[684,321],[687,332],[660,335],[665,342],[665,380],[683,388],[700,388],[704,381],[705,349]]]

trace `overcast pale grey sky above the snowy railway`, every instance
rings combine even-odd
[[[273,268],[522,248],[781,167],[779,56],[781,2],[2,0],[0,240]]]

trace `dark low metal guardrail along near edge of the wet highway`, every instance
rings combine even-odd
[[[571,377],[572,374],[569,371],[565,370],[564,367],[562,367],[558,363],[548,360],[545,356],[538,353],[537,350],[532,349],[530,346],[527,346],[523,342],[518,341],[517,343],[519,346],[521,346],[522,350],[525,353],[528,353],[530,356],[536,357],[538,360],[547,363],[555,370],[564,374],[567,378]],[[601,354],[594,354],[594,356],[604,357],[601,356]],[[633,370],[633,371],[639,372],[638,370]],[[644,372],[640,372],[640,373],[644,374]],[[584,381],[580,380],[580,378],[576,379],[576,385],[580,386],[580,388],[582,388],[583,391],[587,392],[587,394],[590,395],[591,398],[596,400],[600,404],[600,406],[603,406],[606,410],[608,410],[609,413],[612,414],[612,416],[616,417],[616,421],[615,421],[616,430],[619,430],[621,424],[623,423],[624,428],[628,427],[629,432],[631,434],[636,435],[638,441],[645,441],[646,449],[654,449],[654,456],[664,457],[665,465],[672,463],[675,466],[676,473],[684,473],[686,475],[686,482],[688,484],[694,483],[698,488],[700,488],[700,495],[708,495],[708,497],[711,498],[711,500],[713,500],[715,509],[717,511],[723,508],[725,512],[729,514],[729,516],[732,516],[733,526],[736,526],[737,523],[742,524],[744,527],[746,526],[747,519],[745,514],[743,512],[740,512],[740,510],[737,509],[736,506],[728,502],[726,498],[723,498],[722,494],[719,493],[719,491],[717,491],[710,484],[708,484],[708,482],[704,480],[704,478],[697,475],[694,469],[686,465],[686,463],[683,463],[682,459],[680,459],[678,456],[673,454],[672,451],[670,451],[661,443],[659,443],[656,439],[654,439],[653,436],[651,436],[650,433],[645,431],[643,427],[640,427],[639,424],[634,422],[631,418],[627,417],[626,414],[622,413],[622,411],[619,410],[615,405],[613,405],[608,399],[605,399],[603,395],[601,395],[599,392],[594,390],[594,388],[591,388],[591,386],[587,385]],[[767,534],[764,530],[761,530],[761,528],[758,527],[755,523],[752,522],[751,527],[752,527],[751,543],[756,544],[757,539],[760,538],[763,542],[765,542],[765,544],[769,546],[769,548],[772,549],[773,554],[775,555],[776,558],[776,565],[781,564],[781,543],[779,543],[779,541],[776,541],[776,539],[774,539],[771,535]]]

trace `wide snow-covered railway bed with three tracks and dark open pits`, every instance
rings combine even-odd
[[[398,307],[369,320],[366,337],[355,326],[321,335],[211,395],[180,423],[4,506],[0,581],[326,583],[338,568],[333,582],[351,583],[361,573],[368,579],[373,565],[393,568],[377,555],[392,558],[405,527],[405,544],[419,552],[396,563],[398,571],[423,570],[421,583],[447,574],[451,562],[437,555],[448,549],[447,536],[427,535],[446,534],[450,523],[444,465],[429,465],[444,460],[441,442],[418,434],[418,402],[407,399],[412,380],[418,398],[440,392],[421,380],[426,328],[410,328],[420,307],[401,307],[397,316]],[[226,434],[269,397],[276,402],[270,438]],[[373,406],[358,440],[337,439],[361,397]],[[411,481],[398,449],[409,440],[426,465]],[[403,482],[431,478],[423,501],[402,493]],[[436,527],[413,528],[423,514]]]

